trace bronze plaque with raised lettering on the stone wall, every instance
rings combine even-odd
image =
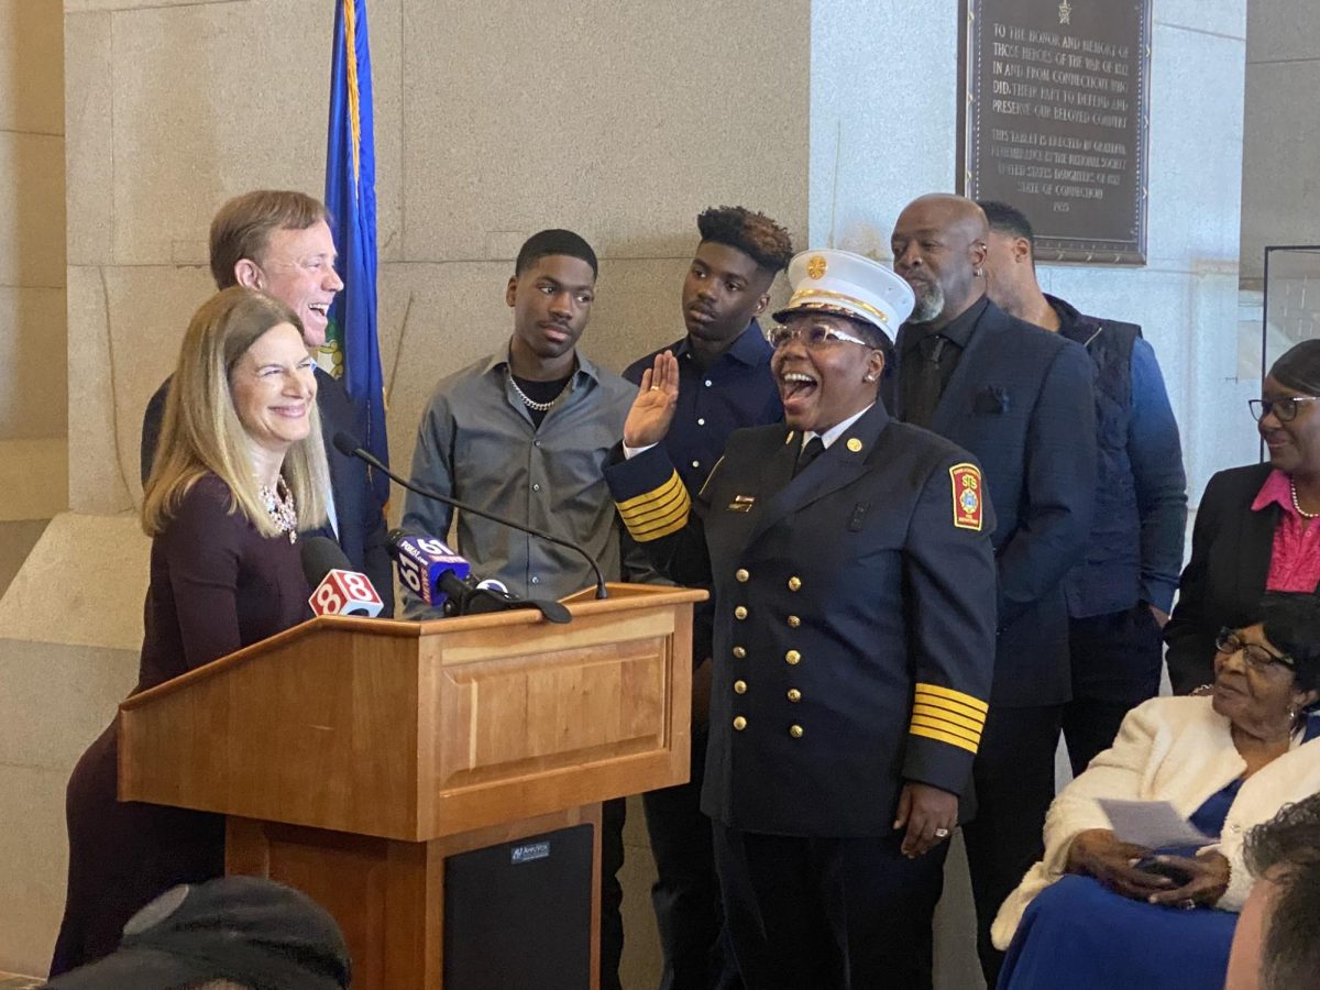
[[[1146,263],[1150,0],[964,0],[960,191],[1041,261]]]

